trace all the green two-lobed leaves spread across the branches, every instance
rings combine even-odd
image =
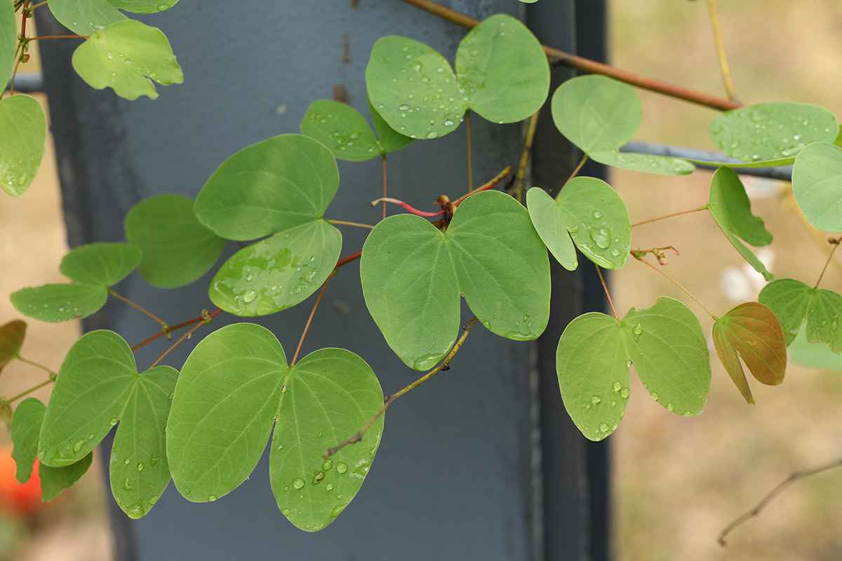
[[[120,10],[152,13],[174,3],[50,0],[48,7],[73,32],[87,36],[72,59],[79,75],[92,87],[111,87],[134,99],[155,98],[152,81],[179,83],[182,73],[163,34]],[[22,8],[25,20],[29,3],[0,5],[0,75],[10,76],[27,44],[15,37],[15,8]],[[624,267],[630,256],[646,262],[649,253],[665,263],[668,248],[632,249],[626,204],[608,183],[572,177],[558,193],[530,188],[526,207],[520,193],[494,191],[493,184],[469,189],[452,202],[440,198],[440,212],[413,209],[381,220],[361,251],[347,257],[340,257],[337,225],[349,223],[328,220],[325,213],[339,187],[337,158],[380,156],[385,162],[388,153],[414,139],[450,134],[469,112],[499,124],[528,119],[549,97],[549,77],[541,45],[506,15],[466,34],[455,70],[429,45],[383,37],[365,71],[374,130],[347,105],[312,103],[301,135],[275,136],[237,152],[195,200],[165,194],[141,201],[125,217],[127,243],[77,247],[61,262],[72,283],[23,288],[12,302],[35,320],[85,317],[109,294],[116,297],[111,287],[135,269],[158,288],[195,283],[216,267],[227,241],[237,241],[246,243],[216,268],[207,288],[218,310],[183,325],[162,323],[162,334],[195,324],[192,333],[222,311],[240,317],[278,313],[315,294],[339,267],[359,257],[370,315],[408,367],[430,371],[422,380],[448,368],[473,325],[463,326],[460,337],[462,297],[489,331],[534,340],[549,319],[549,256],[568,270],[582,257],[608,269]],[[642,120],[631,86],[576,77],[552,93],[551,108],[557,129],[584,159],[662,175],[695,170],[692,161],[619,150]],[[2,187],[19,196],[43,152],[39,104],[20,94],[0,100],[0,131]],[[698,210],[710,212],[727,240],[768,280],[772,275],[749,246],[768,245],[772,236],[752,214],[733,168],[794,162],[793,189],[807,220],[839,231],[838,135],[833,114],[802,103],[739,108],[711,124],[717,146],[744,163],[721,164],[708,202]],[[786,347],[804,321],[807,341],[842,352],[840,315],[839,294],[777,279],[759,303],[715,317],[713,341],[738,390],[753,403],[742,363],[759,382],[780,384]],[[0,328],[0,368],[20,357],[24,332],[20,320]],[[701,413],[711,365],[695,314],[664,297],[622,317],[589,313],[568,325],[558,341],[558,381],[585,437],[600,440],[619,425],[631,368],[665,410]],[[382,413],[394,399],[384,405],[375,373],[354,352],[322,348],[298,360],[296,351],[290,360],[270,331],[248,322],[205,336],[180,371],[155,363],[138,372],[133,349],[120,335],[93,331],[72,346],[45,384],[52,381],[48,405],[23,400],[11,421],[18,477],[29,479],[38,458],[45,498],[83,474],[93,447],[114,426],[111,489],[132,517],[146,515],[170,479],[188,500],[213,501],[229,493],[248,478],[270,441],[275,499],[284,516],[306,531],[326,527],[360,490],[380,442]],[[20,397],[0,400],[0,409],[10,410]]]

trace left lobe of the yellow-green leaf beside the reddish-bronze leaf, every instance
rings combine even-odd
[[[610,435],[626,415],[629,368],[620,321],[591,312],[564,329],[556,351],[564,408],[590,440]]]

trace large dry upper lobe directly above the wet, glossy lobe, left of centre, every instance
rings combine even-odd
[[[195,213],[219,236],[253,240],[321,219],[338,185],[327,148],[304,135],[280,135],[224,161],[196,198]]]

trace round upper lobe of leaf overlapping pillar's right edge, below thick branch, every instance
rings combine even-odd
[[[552,94],[556,128],[585,153],[613,151],[632,140],[642,119],[634,88],[608,77],[571,78]]]

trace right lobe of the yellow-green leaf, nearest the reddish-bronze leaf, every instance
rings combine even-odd
[[[699,320],[678,300],[659,298],[622,320],[628,358],[653,400],[680,415],[698,415],[711,388],[711,358]]]

